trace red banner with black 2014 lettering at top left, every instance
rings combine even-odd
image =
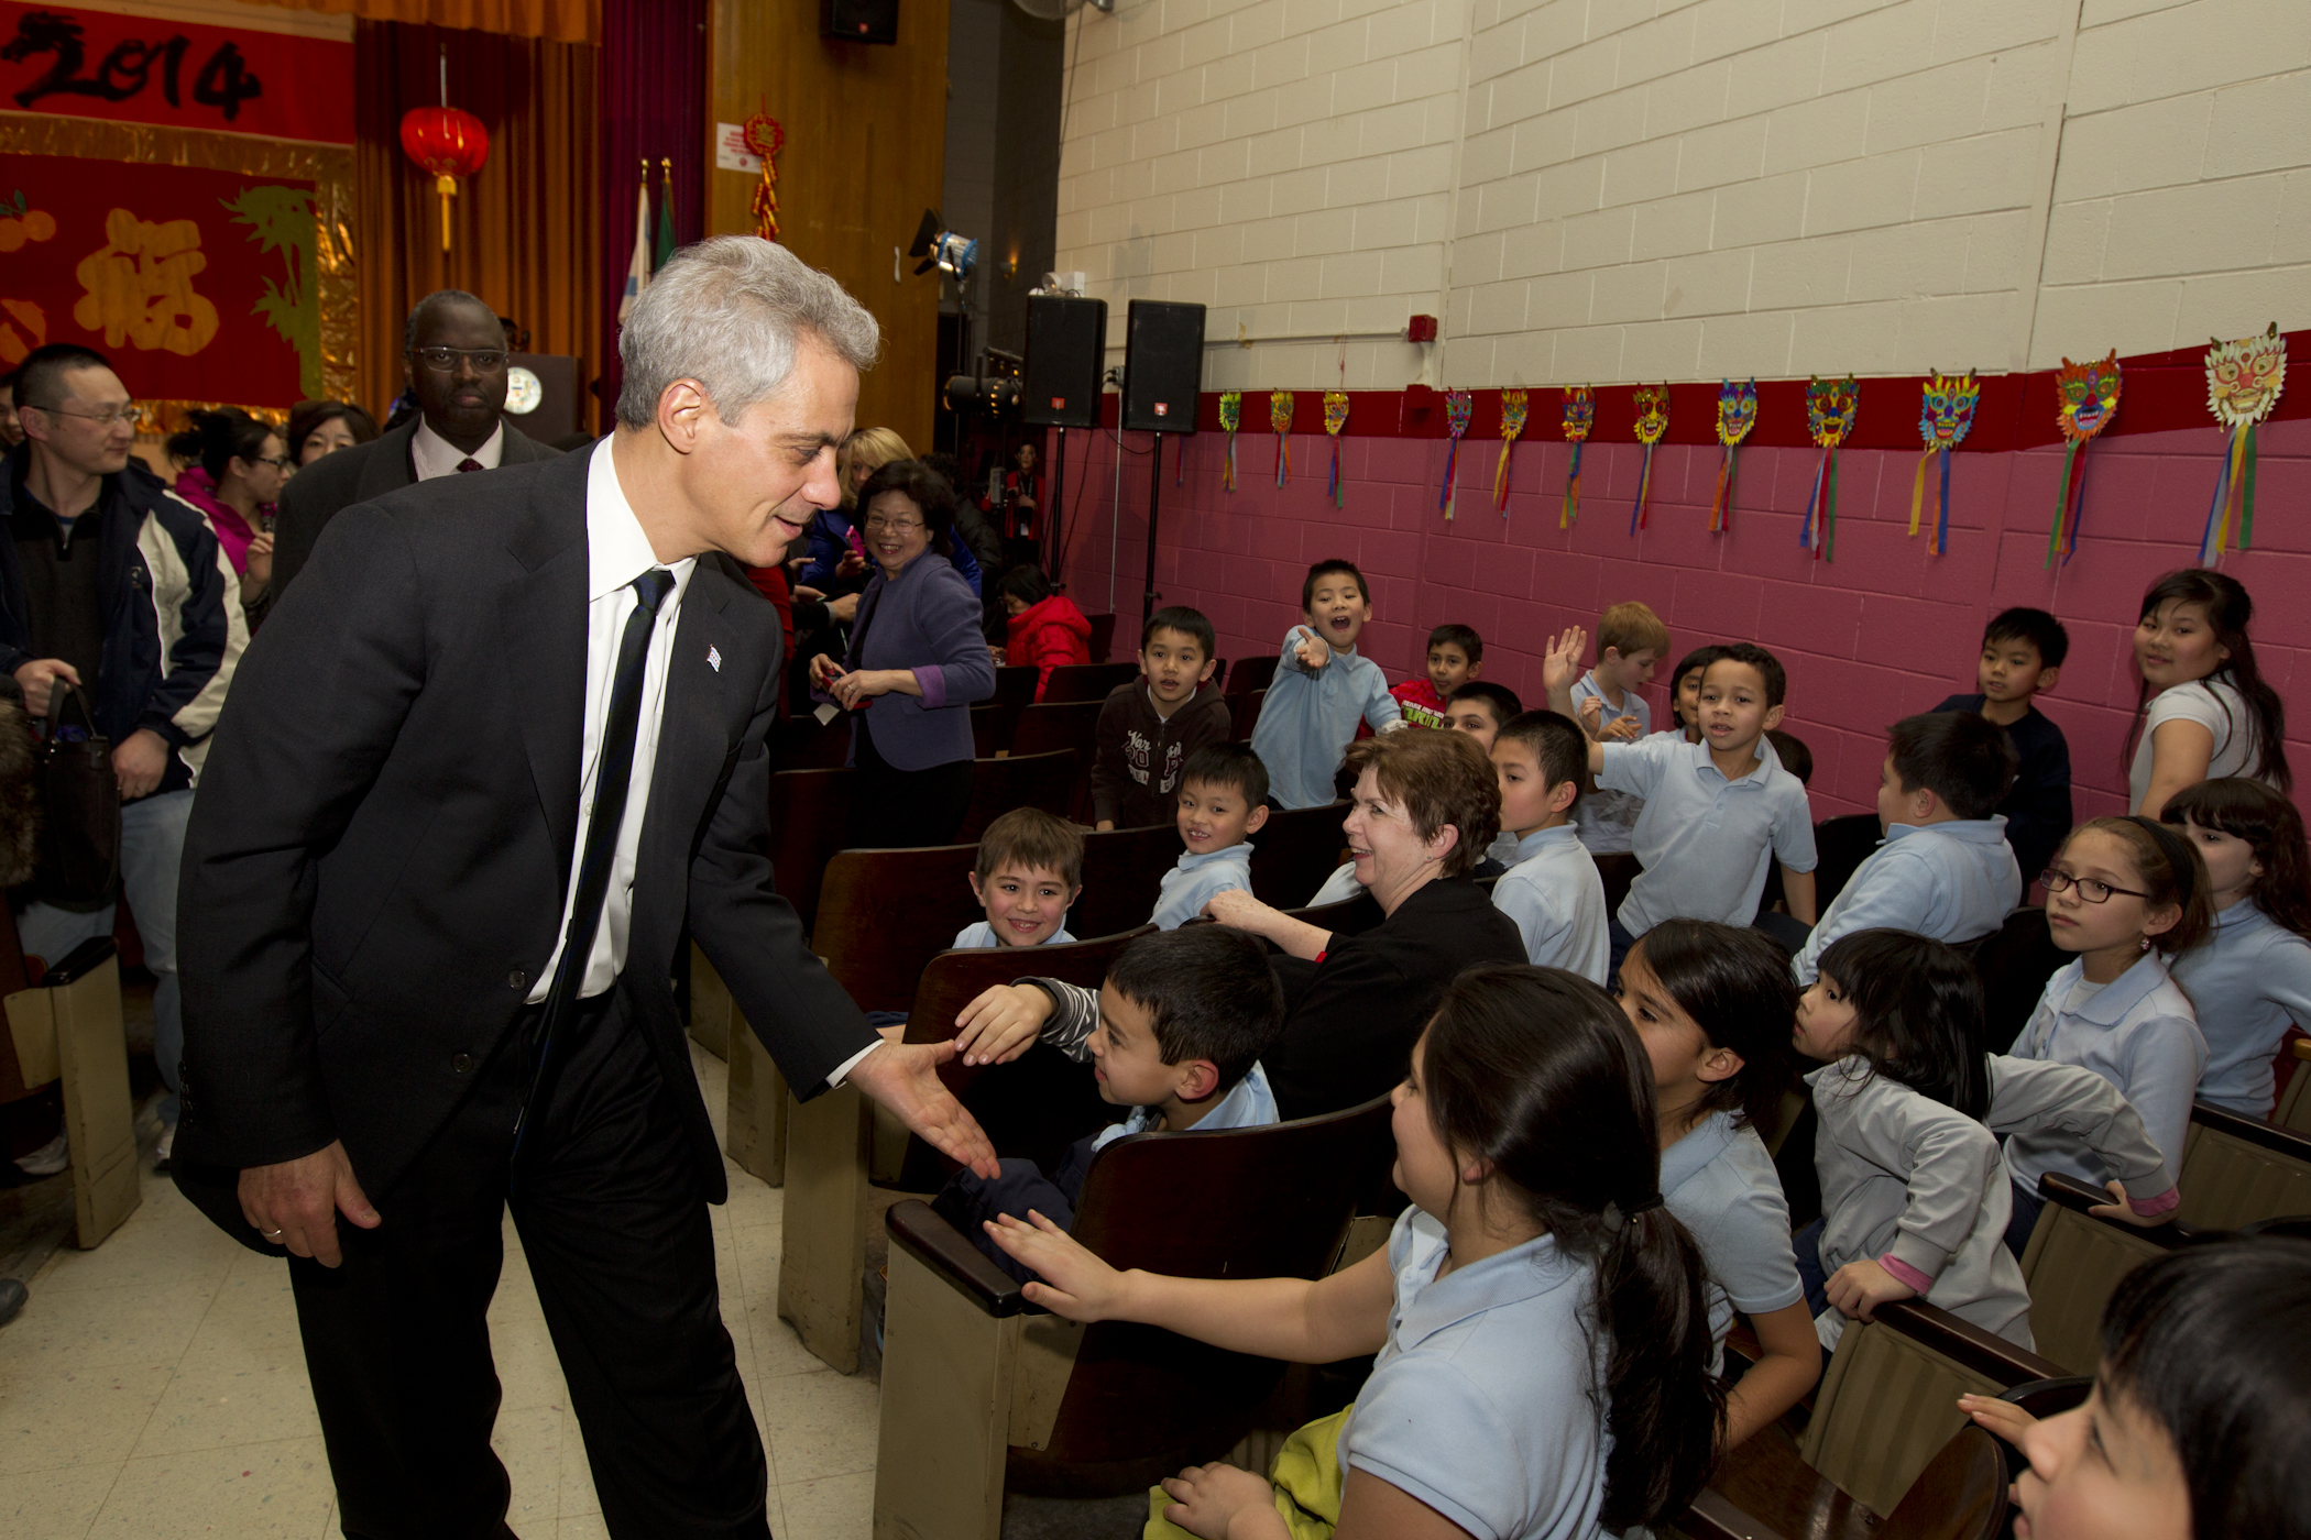
[[[354,46],[0,0],[0,111],[354,143]]]

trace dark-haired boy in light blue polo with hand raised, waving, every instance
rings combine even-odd
[[[1541,660],[1548,704],[1565,716],[1585,644],[1588,635],[1574,626]],[[1597,785],[1645,799],[1634,845],[1645,870],[1613,917],[1613,972],[1636,937],[1664,919],[1754,921],[1775,859],[1791,917],[1814,924],[1814,813],[1798,778],[1763,746],[1766,730],[1782,725],[1786,693],[1782,660],[1736,642],[1701,676],[1699,743],[1666,732],[1636,743],[1590,741]]]

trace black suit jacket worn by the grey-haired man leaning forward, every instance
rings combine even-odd
[[[185,838],[178,1171],[342,1138],[384,1198],[525,1009],[578,829],[587,464],[349,508],[245,653]],[[721,1201],[670,984],[684,917],[797,1094],[876,1039],[772,891],[776,614],[703,556],[668,644],[617,990]]]

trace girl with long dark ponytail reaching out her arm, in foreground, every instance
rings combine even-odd
[[[1682,1512],[1724,1388],[1627,1018],[1555,967],[1470,967],[1394,1099],[1412,1208],[1329,1279],[1114,1272],[1040,1214],[987,1226],[1047,1279],[1028,1300],[1070,1321],[1296,1362],[1380,1355],[1354,1406],[1294,1434],[1273,1487],[1192,1466],[1151,1494],[1146,1535],[1590,1540]]]

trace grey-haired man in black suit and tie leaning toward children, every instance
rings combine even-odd
[[[185,1191],[287,1249],[349,1535],[506,1535],[485,1311],[511,1208],[612,1535],[760,1538],[684,921],[800,1097],[994,1175],[772,887],[776,566],[876,323],[721,238],[622,339],[585,455],[349,508],[236,681],[185,850]],[[374,1196],[374,1203],[372,1203]],[[337,1217],[344,1217],[344,1226]]]

